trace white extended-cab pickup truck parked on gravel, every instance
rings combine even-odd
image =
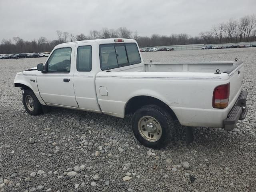
[[[31,115],[46,106],[108,114],[134,114],[132,130],[150,148],[165,147],[175,128],[232,130],[247,114],[243,62],[144,63],[131,39],[101,39],[57,45],[45,64],[18,72]]]

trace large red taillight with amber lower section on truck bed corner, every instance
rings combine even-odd
[[[228,106],[229,92],[230,83],[216,87],[213,91],[212,107],[219,109],[226,108]]]

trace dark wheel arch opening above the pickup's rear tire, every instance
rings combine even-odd
[[[136,110],[138,110],[142,106],[150,104],[155,104],[159,107],[164,108],[165,110],[167,110],[167,112],[169,112],[172,118],[178,120],[174,111],[165,102],[158,98],[146,95],[134,96],[130,98],[130,100],[128,100],[128,102],[125,105],[124,114],[134,114],[134,112],[136,112]]]

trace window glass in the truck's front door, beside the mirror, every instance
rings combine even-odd
[[[60,48],[54,50],[47,61],[48,72],[70,72],[71,48]]]

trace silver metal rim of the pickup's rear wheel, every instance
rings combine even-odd
[[[158,141],[162,136],[160,123],[152,116],[143,116],[138,122],[140,135],[150,142]]]

